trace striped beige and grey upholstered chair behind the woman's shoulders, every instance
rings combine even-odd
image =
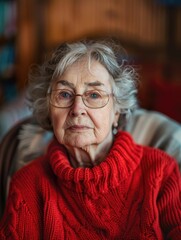
[[[138,144],[162,149],[172,155],[181,168],[181,125],[153,111],[136,110],[125,129]],[[31,117],[17,123],[0,145],[0,214],[2,215],[11,176],[46,151],[53,137]]]

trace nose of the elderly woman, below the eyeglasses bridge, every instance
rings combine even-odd
[[[86,106],[83,103],[81,95],[75,96],[74,104],[71,107],[70,114],[74,117],[86,114]]]

